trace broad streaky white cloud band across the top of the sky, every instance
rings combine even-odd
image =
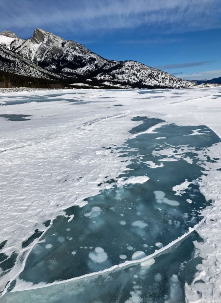
[[[151,26],[188,32],[221,28],[220,0],[0,0],[0,30],[20,28],[72,31]]]

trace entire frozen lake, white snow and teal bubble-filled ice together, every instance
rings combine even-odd
[[[0,128],[0,302],[220,302],[220,87],[2,93]]]

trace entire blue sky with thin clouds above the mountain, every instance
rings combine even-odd
[[[179,78],[221,76],[220,0],[0,0],[0,31],[35,28]]]

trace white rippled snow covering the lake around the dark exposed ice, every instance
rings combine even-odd
[[[32,115],[29,121],[21,122],[0,118],[0,242],[8,240],[2,253],[10,255],[17,251],[27,256],[39,240],[27,248],[21,247],[22,241],[36,228],[45,231],[44,221],[64,215],[63,210],[74,204],[83,207],[85,198],[111,186],[97,185],[105,176],[116,178],[126,170],[129,162],[120,162],[114,145],[121,147],[125,139],[133,137],[129,130],[140,122],[132,121],[132,117],[161,118],[177,125],[207,125],[221,137],[221,98],[213,98],[221,94],[221,87],[179,89],[176,93],[182,94],[176,98],[175,91],[159,91],[154,101],[146,98],[152,96],[151,91],[146,90],[149,93],[145,95],[138,94],[140,91],[79,89],[74,91],[73,97],[70,97],[72,90],[0,94],[0,104],[33,95],[60,93],[64,100],[55,98],[51,102],[0,106],[1,114]],[[160,98],[162,95],[164,98]],[[101,102],[100,97],[109,98]],[[91,102],[72,105],[66,102],[71,98]],[[114,104],[122,106],[114,107]],[[113,152],[105,150],[104,146],[112,147]],[[172,153],[172,148],[165,152],[168,159],[172,155],[176,160],[183,158],[182,153]],[[210,157],[220,158],[221,143],[205,152]],[[204,239],[196,243],[203,262],[197,266],[193,283],[186,284],[186,302],[191,303],[218,303],[221,297],[221,171],[217,170],[221,168],[220,159],[207,162],[206,166],[200,189],[213,203],[202,211],[204,220],[195,228]],[[6,278],[2,278],[2,287],[18,276],[25,261],[26,257],[22,265],[16,264]],[[206,286],[194,284],[197,280],[203,280]]]

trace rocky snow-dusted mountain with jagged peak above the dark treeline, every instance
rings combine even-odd
[[[9,31],[0,33],[0,71],[101,88],[180,88],[194,85],[136,61],[107,60],[77,42],[39,28],[27,40]]]

